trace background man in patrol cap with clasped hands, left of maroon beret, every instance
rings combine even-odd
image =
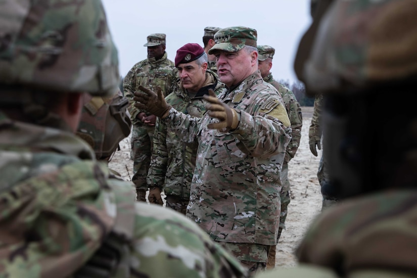
[[[152,141],[155,131],[156,116],[134,106],[133,94],[138,86],[156,88],[160,86],[164,95],[169,94],[172,83],[178,78],[174,62],[167,58],[166,35],[150,34],[144,47],[148,48],[148,58],[136,63],[126,74],[123,90],[129,100],[129,112],[133,124],[131,148],[133,159],[132,181],[136,187],[136,199],[146,201],[146,176],[152,155]]]

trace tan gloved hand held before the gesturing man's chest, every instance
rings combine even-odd
[[[209,96],[204,95],[203,98],[208,102],[206,104],[208,115],[220,120],[218,123],[208,124],[208,128],[230,130],[236,129],[238,127],[238,112],[236,109],[229,107],[225,103],[222,103],[214,94],[213,89],[209,89]]]

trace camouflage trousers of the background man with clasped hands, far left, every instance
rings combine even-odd
[[[138,197],[145,196],[148,190],[146,176],[151,164],[154,130],[155,126],[133,125],[132,127],[130,140],[133,158],[132,181]]]

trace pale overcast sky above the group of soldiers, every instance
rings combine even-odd
[[[110,31],[119,51],[120,74],[146,59],[143,45],[152,33],[166,34],[168,59],[194,42],[203,47],[207,26],[246,26],[257,30],[258,45],[275,48],[272,75],[297,80],[293,62],[298,42],[310,23],[310,0],[103,0]]]

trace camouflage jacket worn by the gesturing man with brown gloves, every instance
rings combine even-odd
[[[291,127],[281,97],[256,72],[219,95],[240,111],[237,129],[209,129],[206,113],[193,118],[171,108],[164,119],[187,142],[199,140],[187,215],[212,239],[276,244],[281,168]],[[280,120],[279,120],[280,119]]]

